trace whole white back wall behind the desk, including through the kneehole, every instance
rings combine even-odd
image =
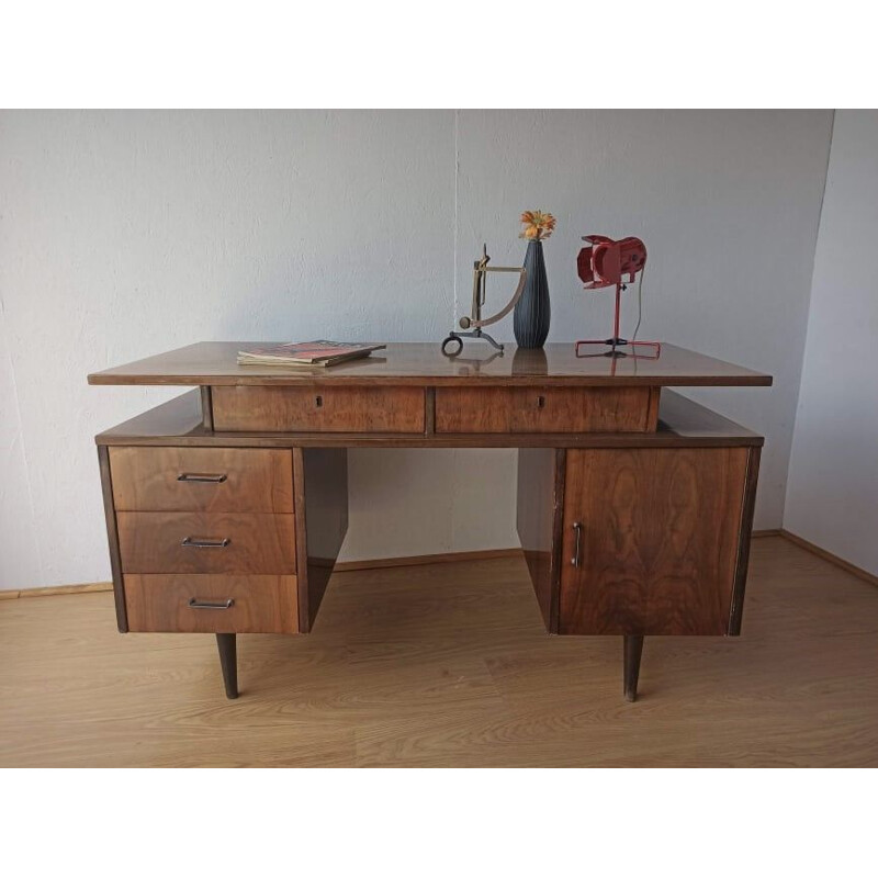
[[[109,577],[92,437],[172,392],[87,372],[199,339],[438,342],[483,240],[521,260],[526,207],[559,218],[550,340],[609,325],[579,236],[637,234],[642,337],[776,375],[697,396],[768,437],[756,526],[779,526],[831,119],[0,113],[0,587]],[[345,556],[515,544],[514,480],[514,451],[352,452]]]

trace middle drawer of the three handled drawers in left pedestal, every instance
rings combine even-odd
[[[123,573],[295,573],[292,515],[117,513]]]

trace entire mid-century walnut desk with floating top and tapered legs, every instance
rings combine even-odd
[[[518,533],[552,634],[739,634],[763,438],[672,386],[772,383],[672,345],[390,345],[329,369],[202,342],[89,375],[200,390],[97,437],[119,630],[307,633],[348,524],[348,448],[517,448]],[[480,358],[481,357],[481,358]]]

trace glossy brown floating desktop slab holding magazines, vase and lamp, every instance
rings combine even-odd
[[[572,342],[539,350],[507,346],[504,353],[480,342],[446,357],[437,342],[390,344],[371,357],[334,367],[238,365],[245,341],[201,341],[89,375],[90,384],[454,384],[571,386],[768,386],[772,376],[663,345],[657,359],[576,357]],[[597,348],[596,350],[600,350]]]

